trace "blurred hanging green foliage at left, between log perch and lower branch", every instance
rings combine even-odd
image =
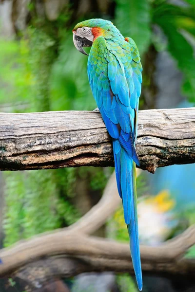
[[[78,219],[75,208],[59,195],[54,170],[7,172],[5,177],[5,246]]]

